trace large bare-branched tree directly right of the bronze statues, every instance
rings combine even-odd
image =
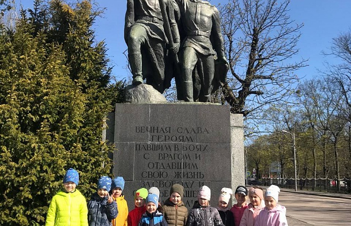
[[[288,15],[289,0],[236,0],[220,8],[230,73],[221,84],[232,113],[258,114],[271,104],[287,103],[298,81],[291,62],[303,24]]]

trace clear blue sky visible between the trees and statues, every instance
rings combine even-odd
[[[98,18],[94,29],[97,40],[105,40],[114,76],[127,78],[127,61],[123,52],[127,49],[123,37],[126,0],[97,0],[100,7],[105,7],[103,18]],[[211,0],[212,4],[225,4],[228,0]],[[24,8],[31,7],[33,0],[21,0]],[[296,23],[304,23],[301,39],[298,43],[300,52],[296,61],[308,59],[309,66],[296,72],[298,77],[306,79],[318,76],[317,69],[323,69],[323,63],[337,63],[332,57],[324,57],[321,51],[328,51],[332,38],[347,32],[351,28],[351,0],[291,0],[289,15]],[[294,60],[292,59],[292,61]]]

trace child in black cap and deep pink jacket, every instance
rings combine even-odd
[[[244,214],[245,209],[249,206],[246,203],[246,197],[248,195],[248,190],[245,186],[239,185],[236,187],[234,197],[236,199],[236,204],[231,208],[231,212],[234,216],[234,226],[240,226],[241,218]]]

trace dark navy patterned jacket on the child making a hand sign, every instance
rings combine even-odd
[[[111,221],[118,215],[116,201],[107,203],[108,197],[94,193],[88,202],[89,226],[112,226]]]

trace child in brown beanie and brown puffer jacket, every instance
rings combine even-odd
[[[163,207],[163,215],[169,226],[185,226],[188,220],[188,208],[181,200],[184,195],[184,187],[179,184],[172,185],[170,198]]]

